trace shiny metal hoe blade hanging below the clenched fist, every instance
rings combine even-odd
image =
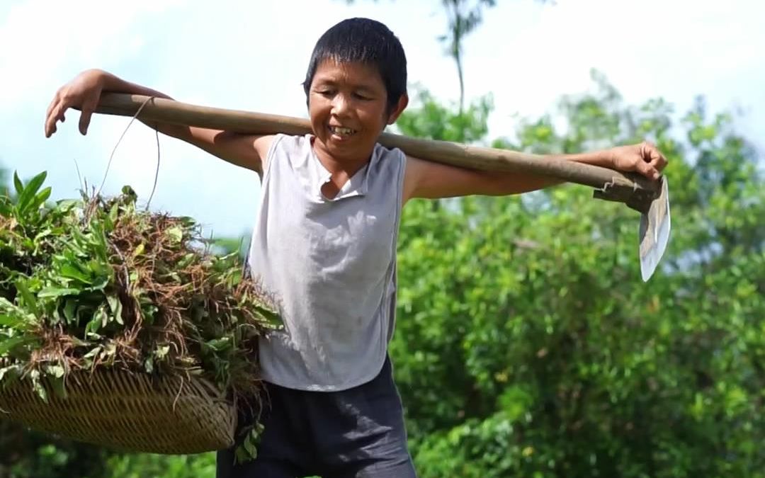
[[[669,187],[666,177],[662,177],[659,196],[651,201],[648,210],[640,215],[638,252],[643,281],[648,281],[656,271],[656,266],[659,265],[669,243],[670,229],[672,224],[669,217]]]

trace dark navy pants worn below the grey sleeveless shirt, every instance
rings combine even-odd
[[[237,465],[233,449],[220,451],[217,478],[416,476],[389,359],[371,382],[340,392],[265,385],[258,457]]]

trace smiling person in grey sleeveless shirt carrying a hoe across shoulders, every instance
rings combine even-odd
[[[241,135],[151,125],[256,171],[261,201],[249,267],[278,295],[286,332],[261,340],[270,406],[259,457],[218,454],[218,476],[415,476],[387,344],[396,309],[396,238],[414,198],[513,194],[559,181],[469,171],[377,144],[407,106],[406,59],[379,22],[342,21],[317,42],[304,89],[312,134]],[[100,93],[168,98],[99,70],[56,93],[45,134],[70,107],[87,131]],[[651,179],[666,166],[652,145],[560,156]]]

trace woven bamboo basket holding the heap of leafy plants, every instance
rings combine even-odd
[[[43,385],[48,403],[27,380],[0,390],[0,418],[128,453],[197,454],[233,445],[233,405],[202,379],[73,372],[66,398]]]

